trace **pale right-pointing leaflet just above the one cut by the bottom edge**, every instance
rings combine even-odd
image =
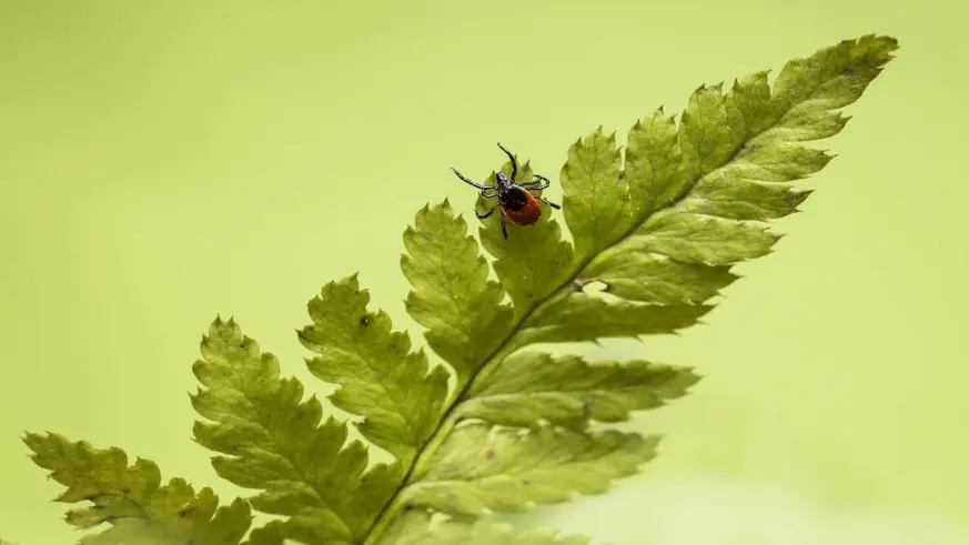
[[[521,512],[533,503],[567,502],[575,493],[608,492],[655,455],[657,437],[614,431],[524,431],[470,422],[434,454],[420,482],[404,488],[408,505],[463,516]]]

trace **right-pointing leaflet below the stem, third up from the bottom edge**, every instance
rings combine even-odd
[[[461,417],[506,426],[584,428],[589,420],[623,422],[686,395],[699,377],[690,369],[645,361],[586,362],[567,355],[518,352],[468,392]]]

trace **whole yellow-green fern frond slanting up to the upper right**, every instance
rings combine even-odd
[[[38,465],[67,487],[59,499],[81,528],[109,524],[90,544],[239,545],[250,508],[281,516],[246,545],[581,545],[581,536],[517,533],[486,515],[599,494],[656,455],[658,437],[591,423],[627,420],[686,394],[688,367],[642,360],[588,362],[538,352],[538,343],[597,342],[676,333],[710,312],[737,275],[768,254],[784,218],[810,194],[793,182],[831,159],[801,142],[838,133],[837,111],[858,100],[897,42],[866,36],[690,97],[679,122],[662,109],[637,121],[625,150],[598,128],[568,149],[559,171],[564,238],[556,214],[482,244],[447,201],[424,206],[404,232],[401,268],[410,315],[455,375],[432,366],[394,331],[356,275],[326,284],[307,305],[300,342],[333,404],[361,417],[369,443],[394,462],[371,464],[304,386],[284,379],[233,321],[215,319],[201,343],[191,395],[195,441],[223,478],[254,491],[218,506],[209,488],[161,485],[158,467],[129,465],[59,435],[29,434]],[[519,180],[533,176],[519,162]],[[511,164],[501,172],[511,173]],[[495,172],[486,182],[494,182]],[[478,205],[482,205],[481,198]],[[497,281],[484,250],[494,258]],[[588,290],[591,284],[604,287]],[[509,302],[505,302],[506,299]]]

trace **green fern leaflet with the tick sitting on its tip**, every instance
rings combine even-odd
[[[534,179],[528,161],[518,161],[519,181]],[[512,175],[512,162],[506,162],[502,169],[506,176]],[[492,172],[485,184],[495,183]],[[541,195],[542,191],[533,191]],[[494,200],[478,196],[475,208],[486,211]],[[487,206],[487,208],[486,208]],[[515,309],[515,317],[521,317],[523,310],[529,309],[536,301],[548,296],[564,282],[568,265],[572,263],[572,244],[562,238],[562,228],[555,215],[543,204],[543,213],[538,221],[525,228],[508,225],[512,230],[506,240],[502,234],[499,214],[481,220],[478,231],[482,245],[494,256],[495,273],[502,285],[508,292]]]

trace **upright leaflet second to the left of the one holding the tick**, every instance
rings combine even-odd
[[[411,352],[405,333],[391,331],[390,316],[367,312],[370,293],[356,275],[331,282],[307,305],[312,325],[300,341],[320,354],[306,363],[319,379],[340,384],[330,400],[364,416],[357,428],[404,466],[431,435],[447,397],[447,372]]]

